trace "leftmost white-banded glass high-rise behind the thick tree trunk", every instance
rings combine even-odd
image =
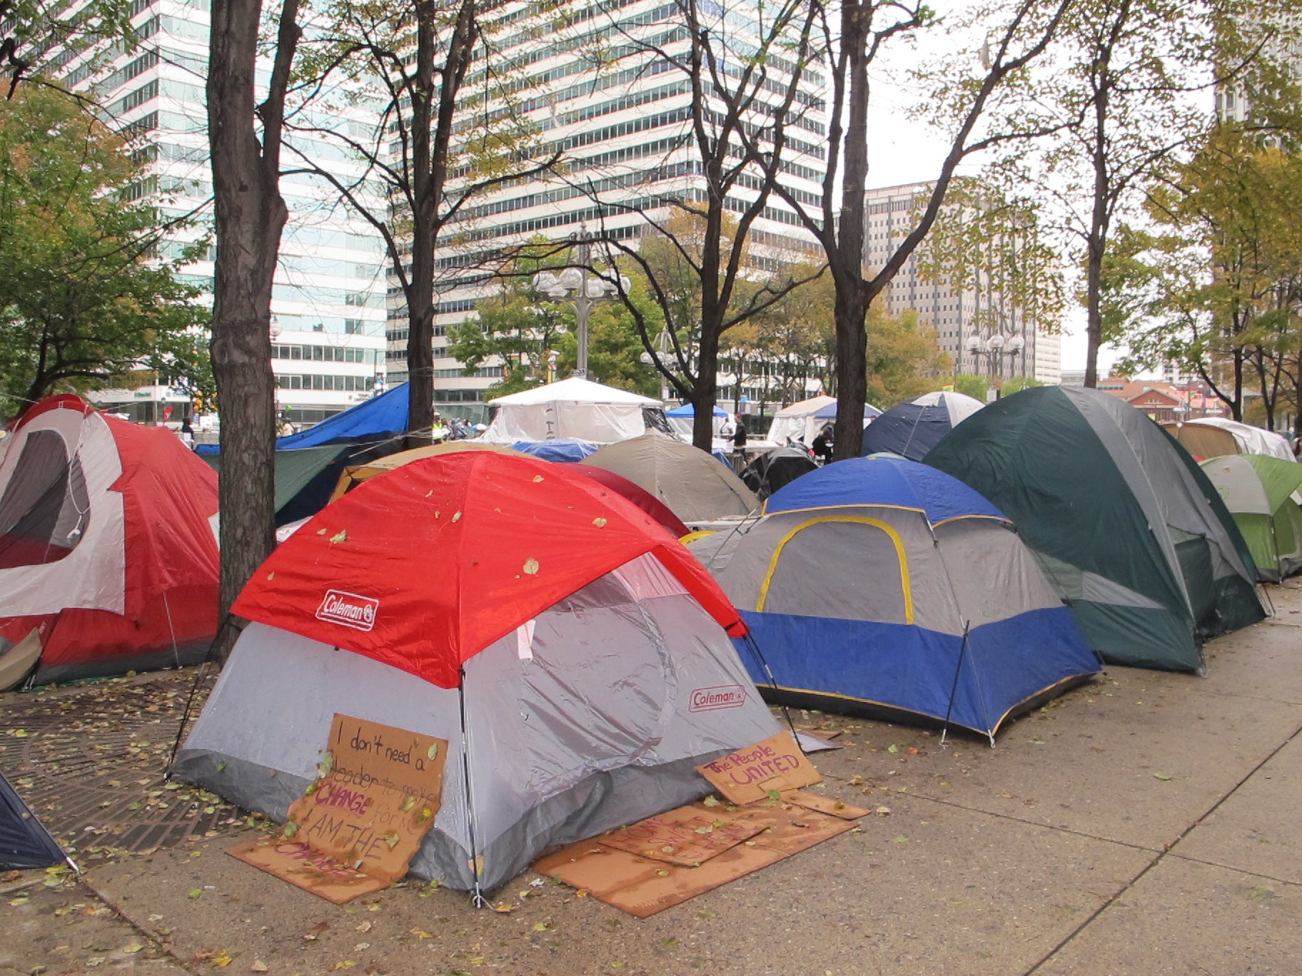
[[[130,137],[148,176],[132,190],[164,219],[195,217],[163,252],[177,255],[208,233],[212,177],[208,164],[204,75],[208,0],[135,0],[132,22],[141,43],[118,44],[102,57],[56,59],[59,81],[91,92],[107,121]],[[267,65],[270,74],[270,64]],[[312,113],[311,108],[305,109]],[[303,113],[299,115],[302,120]],[[374,129],[365,107],[315,112],[320,128]],[[310,161],[353,176],[357,165],[323,139],[288,137],[286,169]],[[302,156],[296,154],[302,152]],[[281,178],[289,207],[272,297],[272,370],[277,403],[296,423],[314,423],[365,400],[384,384],[385,265],[368,224],[339,206],[324,181],[306,173]],[[212,258],[186,268],[191,282],[212,288]]]

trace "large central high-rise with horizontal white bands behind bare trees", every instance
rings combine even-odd
[[[747,20],[746,4],[723,8],[700,3],[703,14],[713,9],[721,30],[745,43],[755,21]],[[548,8],[551,9],[551,8]],[[756,8],[758,9],[758,8]],[[664,55],[687,48],[687,29],[681,7],[663,0],[579,1],[565,10],[564,23],[555,14],[531,13],[518,4],[506,16],[512,26],[493,40],[492,70],[512,77],[510,98],[536,126],[540,141],[564,154],[552,176],[510,181],[484,195],[448,228],[439,252],[436,315],[434,325],[435,400],[441,405],[474,403],[501,377],[491,362],[475,376],[464,376],[462,366],[448,354],[448,329],[474,314],[487,291],[487,276],[495,255],[508,245],[540,236],[551,241],[570,238],[583,229],[621,241],[648,232],[647,212],[664,219],[671,208],[665,197],[703,200],[700,161],[691,141],[691,85],[681,68]],[[547,30],[539,30],[544,22]],[[592,52],[600,51],[599,59]],[[786,79],[796,65],[779,51],[767,59],[768,79],[760,92],[758,112],[781,102]],[[471,69],[467,90],[483,86],[484,66]],[[797,94],[796,118],[788,124],[783,181],[796,198],[818,210],[825,172],[825,79],[806,69]],[[505,98],[505,96],[504,96]],[[487,112],[500,108],[491,102]],[[754,200],[753,187],[738,189],[730,202],[741,210]],[[753,273],[764,273],[781,263],[810,254],[814,239],[785,202],[771,197],[751,232]],[[456,245],[452,242],[456,241]],[[397,289],[391,289],[388,327],[389,376],[406,376],[406,310]],[[720,386],[732,383],[720,376]]]

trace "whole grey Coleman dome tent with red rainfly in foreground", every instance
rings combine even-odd
[[[540,851],[700,796],[777,733],[737,609],[573,465],[427,457],[327,505],[254,573],[250,623],[173,772],[276,820],[335,714],[447,743],[418,877],[491,890]]]

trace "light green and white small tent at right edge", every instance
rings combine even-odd
[[[1203,462],[1243,534],[1256,578],[1279,583],[1302,569],[1302,465],[1264,454],[1230,454]]]

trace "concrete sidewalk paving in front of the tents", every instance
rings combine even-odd
[[[336,907],[227,856],[256,828],[215,808],[171,848],[5,894],[0,976],[1294,976],[1302,590],[1271,595],[1273,619],[1208,645],[1207,678],[1111,669],[993,750],[829,717],[825,793],[880,812],[647,920],[534,874],[499,893],[508,912],[415,882]]]

